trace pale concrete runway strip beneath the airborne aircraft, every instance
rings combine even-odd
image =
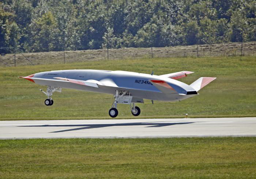
[[[0,139],[256,136],[256,118],[0,121]]]

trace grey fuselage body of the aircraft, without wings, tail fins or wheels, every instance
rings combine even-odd
[[[99,87],[67,83],[56,80],[54,77],[61,77],[75,80],[97,81]],[[189,91],[195,91],[191,86],[180,81],[167,77],[149,75],[144,73],[127,71],[106,71],[106,70],[58,70],[35,73],[33,78],[35,83],[52,87],[71,88],[76,90],[115,94],[116,90],[129,91],[133,97],[161,100],[177,101],[190,98],[194,95],[186,95]],[[149,80],[164,80],[170,84],[175,91],[164,93],[155,87]]]

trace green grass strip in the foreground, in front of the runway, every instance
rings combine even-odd
[[[256,178],[256,138],[0,141],[0,178]]]

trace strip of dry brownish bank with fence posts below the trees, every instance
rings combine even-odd
[[[1,48],[0,48],[1,50]],[[59,52],[3,54],[0,66],[74,63],[81,61],[139,59],[152,57],[255,56],[256,41],[247,43],[205,44],[176,47],[120,48]],[[64,55],[65,54],[65,55]]]

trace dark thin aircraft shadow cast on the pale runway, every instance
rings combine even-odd
[[[66,132],[66,131],[76,131],[83,129],[93,129],[93,128],[101,128],[101,127],[113,127],[113,126],[147,126],[147,127],[164,127],[164,126],[173,126],[177,124],[191,124],[194,122],[181,122],[181,123],[166,123],[166,122],[141,122],[141,123],[116,123],[116,124],[61,124],[61,125],[41,125],[41,126],[18,126],[18,127],[78,127],[74,129],[67,129],[61,131],[54,132]],[[150,125],[150,126],[148,126]],[[52,133],[52,132],[50,132]]]

